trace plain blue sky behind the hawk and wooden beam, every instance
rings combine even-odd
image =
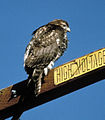
[[[105,0],[0,0],[0,89],[27,78],[23,57],[31,33],[53,19],[71,28],[54,67],[105,47]],[[105,120],[105,80],[28,110],[21,120]]]

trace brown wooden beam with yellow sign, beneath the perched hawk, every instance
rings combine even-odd
[[[27,80],[0,90],[0,120],[13,116],[18,111],[26,111],[65,94],[93,84],[105,78],[105,48],[72,60],[52,69],[44,78],[41,92],[37,98],[27,94]],[[11,89],[18,93],[11,98]]]

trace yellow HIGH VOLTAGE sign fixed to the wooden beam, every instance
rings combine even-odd
[[[103,66],[105,66],[105,48],[55,68],[54,84],[58,85]]]

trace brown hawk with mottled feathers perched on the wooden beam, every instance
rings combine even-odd
[[[68,46],[66,21],[56,19],[36,29],[24,55],[24,68],[29,82],[34,83],[34,94],[40,93],[43,75],[47,75],[54,62],[63,55]]]

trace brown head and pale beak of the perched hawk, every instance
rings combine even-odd
[[[70,32],[71,31],[70,28],[69,28],[69,24],[66,21],[61,20],[61,19],[53,20],[49,24],[54,24],[54,25],[60,26],[61,28],[64,29],[65,32]]]

